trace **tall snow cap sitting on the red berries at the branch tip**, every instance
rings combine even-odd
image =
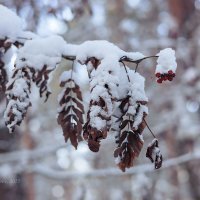
[[[177,63],[175,51],[171,48],[161,50],[158,54],[156,73],[166,74],[169,70],[176,72]]]

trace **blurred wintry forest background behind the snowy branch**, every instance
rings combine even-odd
[[[63,62],[52,77],[48,102],[44,104],[36,91],[25,122],[14,134],[8,133],[1,117],[0,199],[200,199],[200,0],[0,0],[0,4],[22,17],[27,30],[42,36],[59,34],[74,44],[103,39],[145,55],[172,47],[178,62],[175,80],[162,85],[154,78],[155,60],[138,69],[146,77],[147,121],[160,141],[163,168],[149,170],[143,150],[136,167],[122,173],[112,158],[112,136],[97,154],[85,142],[77,151],[64,143],[56,121],[57,79],[71,63]],[[3,116],[2,94],[0,101]],[[151,140],[147,129],[144,139],[146,144]]]

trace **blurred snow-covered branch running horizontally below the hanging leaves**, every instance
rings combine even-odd
[[[169,167],[177,166],[182,163],[186,163],[192,160],[196,160],[200,158],[200,151],[187,153],[182,156],[171,158],[163,162],[163,167],[159,170],[164,170]],[[93,177],[110,177],[110,176],[126,176],[138,173],[149,173],[156,172],[157,170],[153,169],[151,164],[142,164],[135,166],[131,169],[128,169],[126,173],[121,172],[116,168],[108,168],[108,169],[98,169],[91,170],[89,172],[69,172],[69,171],[58,171],[52,168],[49,168],[44,165],[37,164],[33,167],[27,168],[26,171],[30,173],[37,173],[42,176],[57,179],[57,180],[66,180],[66,179],[74,179],[74,178],[93,178]]]

